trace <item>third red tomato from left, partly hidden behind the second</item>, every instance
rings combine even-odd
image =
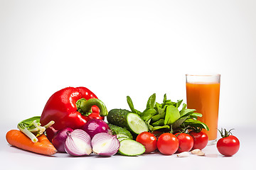
[[[188,152],[193,147],[193,137],[186,133],[176,133],[178,138],[178,150],[177,152]]]

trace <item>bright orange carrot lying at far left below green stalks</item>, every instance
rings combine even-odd
[[[10,130],[6,133],[6,140],[10,145],[23,150],[35,152],[38,154],[53,155],[57,152],[55,147],[47,139],[46,135],[40,135],[38,142],[32,142],[23,132],[19,130]]]

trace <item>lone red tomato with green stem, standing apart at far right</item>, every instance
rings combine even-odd
[[[227,130],[225,130],[225,135],[223,135],[223,130],[221,130],[220,134],[223,138],[220,138],[217,142],[218,152],[227,157],[231,157],[236,154],[240,147],[238,138],[230,135],[230,131]]]

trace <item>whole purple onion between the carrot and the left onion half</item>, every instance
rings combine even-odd
[[[52,143],[53,146],[58,150],[58,152],[65,152],[65,140],[68,137],[67,132],[73,132],[74,130],[71,128],[65,128],[63,130],[58,131],[58,133],[53,137]]]

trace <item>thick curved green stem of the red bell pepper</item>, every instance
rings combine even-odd
[[[100,108],[100,116],[107,116],[108,114],[105,104],[98,98],[90,98],[89,100],[81,98],[76,102],[76,106],[78,108],[78,112],[85,116],[92,113],[92,106],[97,106],[98,108]]]

